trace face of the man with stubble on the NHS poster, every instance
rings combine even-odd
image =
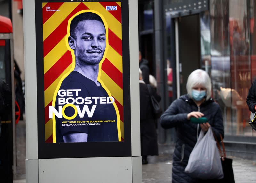
[[[77,24],[74,40],[75,55],[90,65],[99,64],[106,48],[106,30],[98,20],[83,20]]]

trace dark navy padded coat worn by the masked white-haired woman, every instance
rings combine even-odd
[[[192,178],[185,173],[188,158],[193,150],[197,137],[201,131],[199,124],[191,123],[187,115],[193,111],[200,111],[204,114],[212,127],[217,139],[220,141],[220,134],[224,137],[223,119],[220,107],[212,98],[204,101],[200,108],[187,95],[176,99],[168,107],[160,118],[163,128],[176,128],[176,145],[173,153],[172,182],[173,183],[196,183],[200,180]]]

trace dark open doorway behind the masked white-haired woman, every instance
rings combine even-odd
[[[170,46],[167,46],[168,49],[171,49],[169,50],[171,53],[169,57],[170,65],[168,66],[167,62],[167,70],[168,68],[172,68],[173,78],[169,79],[170,77],[167,72],[167,81],[172,80],[172,95],[167,96],[169,105],[176,98],[187,94],[186,84],[189,74],[192,71],[201,68],[199,14],[172,19],[171,22],[171,41]],[[170,86],[167,83],[168,82],[165,84],[165,90],[170,94]],[[166,136],[162,135],[163,137],[161,136],[161,138],[165,138],[166,141],[160,138],[161,141],[165,141],[166,143],[173,143],[176,141],[175,129],[166,130],[165,135]]]

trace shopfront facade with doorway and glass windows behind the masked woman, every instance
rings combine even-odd
[[[256,132],[246,97],[256,78],[255,9],[253,0],[139,1],[140,50],[156,76],[162,107],[186,94],[193,70],[205,70],[221,107],[228,152],[250,159]],[[159,143],[175,142],[174,129],[159,127],[158,134]]]

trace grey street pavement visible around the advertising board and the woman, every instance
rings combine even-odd
[[[13,183],[25,183],[25,122],[16,126],[17,134],[17,169]],[[170,183],[172,181],[172,145],[159,145],[159,156],[149,156],[148,164],[142,165],[143,183]],[[233,171],[236,183],[256,182],[256,161],[233,158]]]

